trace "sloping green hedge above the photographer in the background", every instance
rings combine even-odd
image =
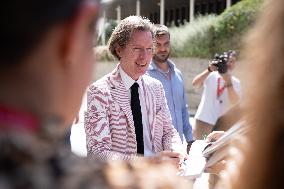
[[[239,50],[262,3],[263,0],[243,0],[219,16],[199,16],[192,23],[171,28],[172,55],[211,58],[228,49]]]

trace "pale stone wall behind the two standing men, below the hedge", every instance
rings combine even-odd
[[[190,114],[194,115],[201,99],[202,88],[194,89],[191,82],[198,73],[207,68],[208,60],[195,58],[172,58],[172,60],[183,73]],[[116,63],[114,62],[98,62],[96,64],[93,80],[95,81],[106,73],[111,72],[115,66]]]

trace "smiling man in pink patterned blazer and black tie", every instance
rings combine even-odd
[[[88,89],[88,155],[103,160],[131,160],[141,155],[180,161],[181,141],[172,125],[162,84],[144,75],[152,58],[151,27],[149,20],[129,16],[109,39],[109,50],[119,64]],[[132,101],[134,85],[138,103]]]

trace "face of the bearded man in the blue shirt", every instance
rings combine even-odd
[[[156,62],[164,63],[170,56],[170,36],[168,34],[159,35],[154,41],[154,56]]]

